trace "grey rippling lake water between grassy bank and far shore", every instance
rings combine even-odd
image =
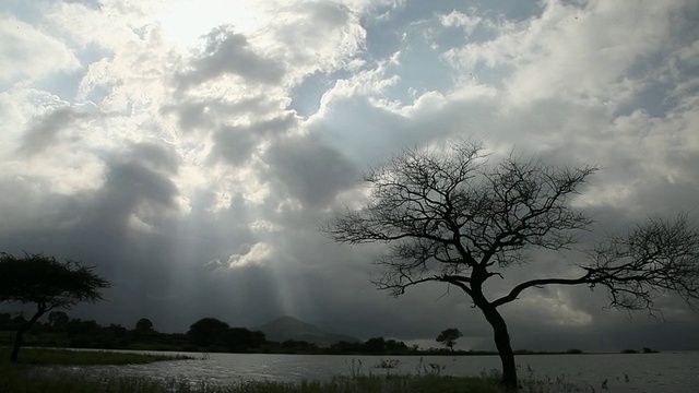
[[[166,353],[170,354],[170,353]],[[192,355],[192,354],[188,354]],[[418,373],[419,366],[443,366],[442,374],[478,376],[500,369],[497,356],[334,356],[194,354],[197,359],[138,366],[73,367],[91,374],[181,378],[191,382],[234,384],[250,380],[329,380],[334,376]],[[396,359],[395,369],[375,368]],[[420,362],[422,361],[422,362]],[[573,383],[583,392],[699,392],[699,353],[525,355],[518,356],[519,377]],[[424,372],[424,368],[419,371]],[[604,383],[606,381],[606,383]],[[603,386],[604,384],[604,386]],[[605,390],[604,388],[607,388]]]

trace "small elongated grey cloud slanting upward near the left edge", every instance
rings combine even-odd
[[[71,107],[61,107],[32,119],[29,128],[22,136],[22,144],[17,148],[17,153],[26,155],[42,153],[60,141],[61,131],[90,116]]]

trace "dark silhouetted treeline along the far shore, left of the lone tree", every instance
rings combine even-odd
[[[22,315],[0,313],[0,346],[11,346],[14,333],[25,322]],[[49,313],[47,322],[36,322],[25,335],[25,346],[142,349],[206,353],[268,354],[416,354],[417,347],[403,342],[374,337],[366,342],[339,342],[319,347],[305,341],[266,340],[263,332],[235,327],[215,318],[203,318],[186,333],[162,333],[149,319],[139,320],[133,329],[118,324],[99,325],[93,320],[71,319],[62,311]]]

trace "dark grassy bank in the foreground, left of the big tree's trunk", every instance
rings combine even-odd
[[[330,381],[240,381],[217,385],[183,378],[145,378],[87,372],[70,366],[142,365],[155,361],[191,359],[183,356],[164,356],[102,350],[24,348],[21,360],[8,361],[9,348],[0,348],[0,390],[4,393],[319,393],[319,392],[473,392],[496,393],[497,376],[440,377],[354,374],[336,377]]]

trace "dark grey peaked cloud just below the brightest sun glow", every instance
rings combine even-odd
[[[248,38],[220,26],[204,36],[205,46],[189,70],[178,75],[180,88],[188,88],[224,74],[236,74],[247,82],[277,83],[284,75],[282,64],[250,47]]]

